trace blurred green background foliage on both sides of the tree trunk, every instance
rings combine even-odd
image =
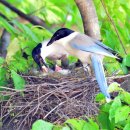
[[[0,17],[0,34],[4,28],[10,33],[11,36],[8,54],[5,61],[5,68],[0,68],[0,72],[2,74],[0,79],[1,85],[6,83],[7,78],[5,77],[9,77],[12,70],[15,72],[28,73],[31,68],[36,67],[36,63],[33,61],[31,56],[32,49],[43,40],[49,39],[56,29],[64,26],[83,32],[81,16],[73,0],[70,0],[69,3],[66,0],[62,0],[60,2],[57,0],[32,0],[31,2],[30,0],[7,1],[12,5],[17,5],[17,8],[24,13],[41,18],[45,22],[47,28],[42,27],[42,29],[39,29],[39,26],[33,26],[29,22],[20,19],[16,13],[0,4],[2,13],[10,20],[7,21],[6,19]],[[129,53],[130,31],[128,28],[130,27],[130,7],[125,3],[129,3],[129,1],[105,1],[106,8],[115,22],[115,26],[119,31],[125,49]],[[120,55],[124,56],[119,39],[113,25],[108,20],[108,16],[106,15],[100,0],[95,0],[94,4],[99,18],[103,42],[119,52]],[[23,53],[28,55],[27,59],[23,57]],[[119,74],[126,74],[128,73],[126,66],[130,66],[129,57],[129,55],[124,56],[122,65],[117,63],[114,59],[106,58],[105,67],[110,74],[117,70],[120,70]],[[74,57],[69,57],[69,60],[70,63],[77,61]],[[7,72],[5,72],[6,70]]]

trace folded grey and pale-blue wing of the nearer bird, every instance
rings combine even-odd
[[[113,55],[111,48],[84,34],[78,34],[77,37],[71,41],[70,45],[78,50],[117,58]]]

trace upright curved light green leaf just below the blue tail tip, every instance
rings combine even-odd
[[[116,110],[121,107],[121,101],[119,98],[115,98],[110,110],[109,110],[109,119],[112,120],[112,118],[115,117]]]

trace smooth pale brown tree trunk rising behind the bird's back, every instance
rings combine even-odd
[[[93,0],[75,0],[75,2],[82,17],[84,33],[101,40],[98,17]]]

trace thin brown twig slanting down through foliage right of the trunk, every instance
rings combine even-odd
[[[125,47],[124,47],[124,45],[123,45],[123,42],[122,42],[122,40],[121,40],[121,38],[120,38],[120,35],[119,35],[119,33],[118,33],[118,30],[117,30],[117,28],[116,28],[116,25],[115,25],[114,21],[112,20],[111,16],[109,15],[109,12],[107,11],[107,8],[106,8],[106,5],[105,5],[104,1],[101,0],[101,3],[102,3],[102,6],[103,6],[103,8],[104,8],[104,10],[105,10],[105,12],[106,12],[106,15],[108,16],[109,21],[112,23],[112,25],[113,25],[113,27],[114,27],[114,29],[115,29],[115,31],[116,31],[117,37],[118,37],[119,42],[120,42],[120,44],[121,44],[121,46],[122,46],[122,48],[123,48],[123,50],[124,50],[124,53],[127,55],[127,52],[126,52]]]

